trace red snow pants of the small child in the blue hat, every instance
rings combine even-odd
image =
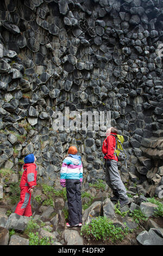
[[[20,194],[20,202],[18,202],[15,214],[27,216],[32,216],[32,209],[31,209],[31,192],[28,191],[29,187],[21,187],[21,194]]]

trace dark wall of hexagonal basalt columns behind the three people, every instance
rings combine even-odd
[[[18,172],[34,153],[38,181],[53,186],[76,145],[84,186],[104,179],[103,127],[77,132],[53,124],[65,107],[110,111],[125,139],[123,182],[153,195],[162,182],[163,2],[5,0],[0,20],[1,168]]]

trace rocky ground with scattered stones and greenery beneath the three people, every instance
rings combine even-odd
[[[142,194],[127,191],[130,203],[120,209],[109,199],[111,191],[107,185],[97,188],[90,184],[89,189],[82,192],[83,225],[96,217],[106,216],[115,227],[124,229],[127,226],[132,230],[122,241],[96,241],[93,237],[87,240],[79,227],[66,227],[68,208],[65,190],[57,185],[55,188],[58,189],[52,190],[47,185],[35,188],[32,217],[14,214],[16,204],[12,205],[9,192],[4,192],[0,201],[0,245],[39,245],[41,241],[44,245],[163,245],[163,217],[155,217],[158,205],[148,202]],[[131,216],[135,209],[140,209],[146,219],[138,216],[137,221]]]

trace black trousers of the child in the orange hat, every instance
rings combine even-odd
[[[68,223],[76,225],[82,223],[82,199],[80,180],[66,180]]]

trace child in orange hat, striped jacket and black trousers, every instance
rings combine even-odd
[[[67,227],[82,226],[81,187],[83,182],[83,164],[81,156],[77,155],[76,147],[68,149],[68,156],[62,162],[60,170],[60,184],[66,187],[68,203]]]

